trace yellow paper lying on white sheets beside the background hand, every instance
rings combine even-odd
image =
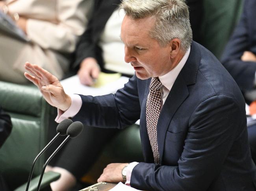
[[[121,77],[120,73],[107,74],[104,72],[100,72],[98,79],[96,80],[93,87],[101,87],[108,83],[115,82]]]

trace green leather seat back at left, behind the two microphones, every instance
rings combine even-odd
[[[0,149],[0,173],[11,189],[27,182],[33,160],[46,145],[51,106],[28,85],[0,82],[0,104],[11,115],[13,129]],[[45,162],[41,156],[33,175]]]

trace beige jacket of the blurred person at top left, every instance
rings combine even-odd
[[[6,0],[9,13],[28,18],[27,35],[43,49],[74,51],[93,0]]]

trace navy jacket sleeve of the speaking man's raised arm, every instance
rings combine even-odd
[[[134,124],[140,117],[141,109],[135,76],[115,94],[80,96],[82,107],[73,120],[81,121],[85,125],[122,129]]]

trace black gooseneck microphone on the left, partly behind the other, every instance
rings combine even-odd
[[[37,162],[37,159],[39,158],[39,156],[41,156],[45,152],[45,150],[56,140],[56,138],[59,135],[61,135],[61,136],[67,135],[67,129],[70,126],[70,124],[72,124],[72,123],[73,123],[73,121],[71,119],[64,119],[62,122],[60,122],[56,128],[57,135],[54,136],[54,138],[45,146],[45,148],[43,148],[43,150],[35,157],[35,160],[32,164],[32,169],[30,171],[30,175],[28,176],[28,183],[27,183],[26,191],[28,191],[30,181],[32,178],[32,174],[33,174],[33,170],[35,167],[35,162]]]

